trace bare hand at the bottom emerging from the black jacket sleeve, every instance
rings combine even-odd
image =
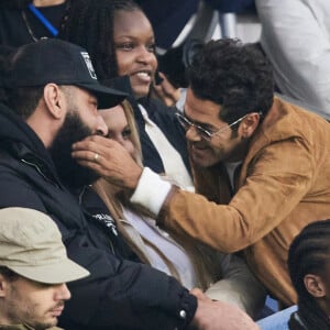
[[[197,310],[191,326],[200,330],[257,330],[258,326],[237,306],[213,301],[200,289],[190,294],[197,297]]]

